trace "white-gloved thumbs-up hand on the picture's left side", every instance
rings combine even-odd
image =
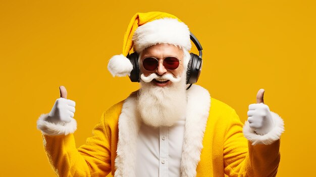
[[[54,124],[65,124],[71,122],[74,117],[76,103],[67,99],[67,90],[64,86],[60,86],[59,89],[61,97],[55,101],[47,121]]]

